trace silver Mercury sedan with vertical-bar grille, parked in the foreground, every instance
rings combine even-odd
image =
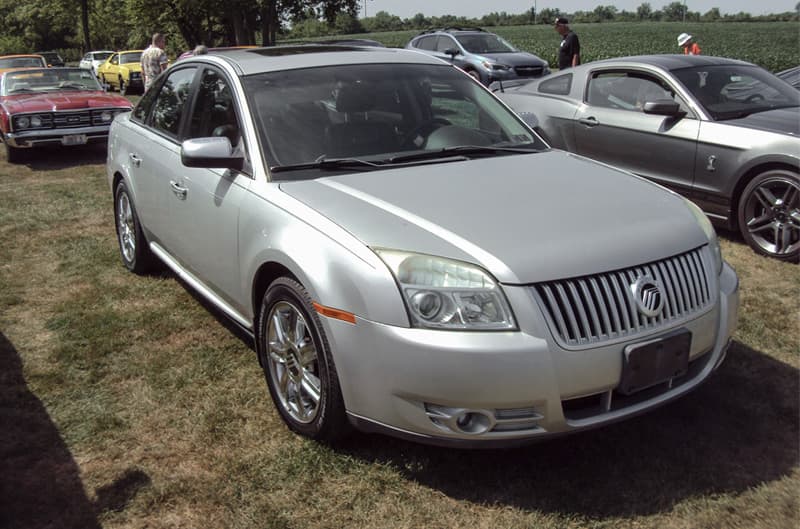
[[[292,430],[513,445],[695,388],[738,280],[686,199],[551,150],[464,72],[305,46],[174,64],[113,123],[122,261],[250,333]]]

